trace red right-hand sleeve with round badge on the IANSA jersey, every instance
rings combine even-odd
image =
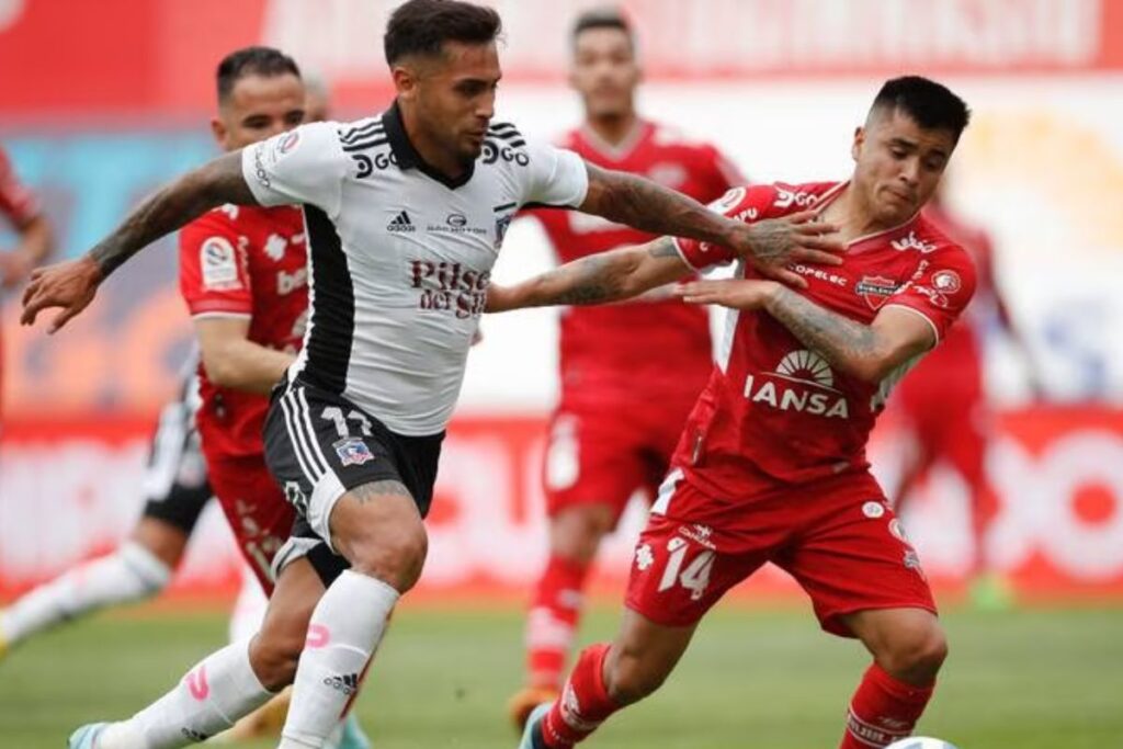
[[[932,326],[937,342],[975,294],[975,264],[967,252],[948,245],[921,261],[916,273],[885,307],[903,307]]]

